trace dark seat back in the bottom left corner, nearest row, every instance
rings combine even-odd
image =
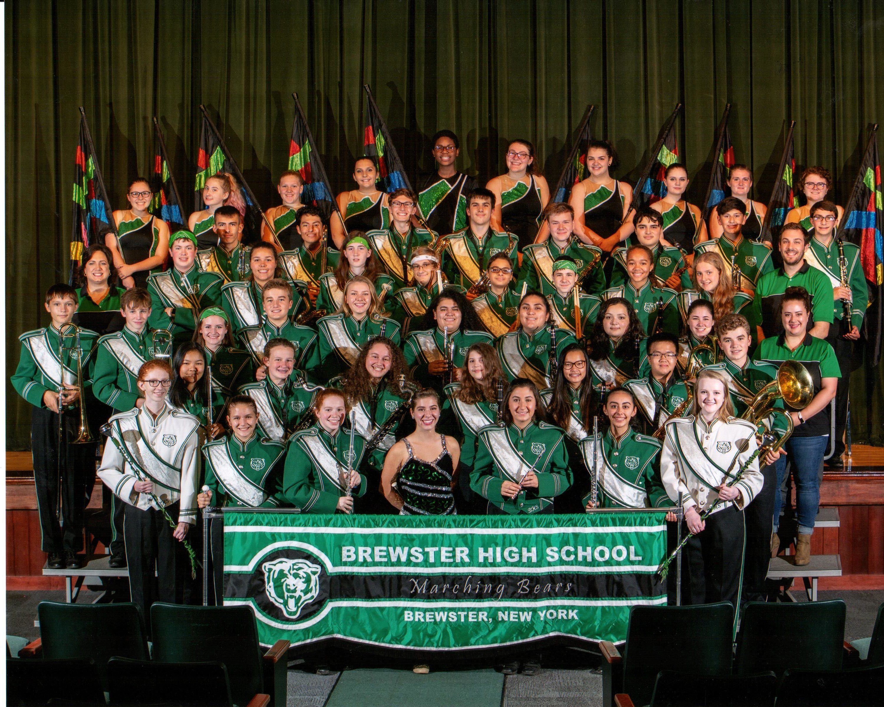
[[[101,705],[105,700],[98,670],[91,660],[6,658],[6,704],[65,707]]]

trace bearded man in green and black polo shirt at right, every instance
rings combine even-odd
[[[834,295],[828,277],[804,260],[804,252],[811,240],[801,224],[786,224],[777,240],[782,266],[766,273],[758,280],[752,300],[752,314],[758,327],[758,339],[775,337],[783,329],[781,319],[782,294],[788,287],[804,287],[811,298],[811,324],[808,334],[826,338],[832,324]]]

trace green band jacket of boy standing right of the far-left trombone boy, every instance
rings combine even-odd
[[[141,334],[124,327],[98,339],[92,381],[95,398],[119,413],[135,407],[135,401],[141,398],[138,390],[141,366],[156,358],[157,353],[171,354],[165,347],[163,351],[156,350],[155,336],[156,331],[149,331],[146,326]],[[171,346],[171,342],[169,344]]]

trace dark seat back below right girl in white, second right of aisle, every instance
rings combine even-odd
[[[847,606],[841,599],[810,604],[750,602],[743,610],[734,673],[789,668],[840,670]]]

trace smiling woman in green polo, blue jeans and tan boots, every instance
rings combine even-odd
[[[813,378],[813,399],[801,410],[786,407],[795,430],[783,446],[785,455],[773,456],[776,460],[777,499],[773,513],[773,537],[771,555],[780,550],[780,511],[783,506],[781,487],[786,480],[787,461],[792,462],[792,474],[796,489],[796,514],[798,542],[795,564],[806,565],[811,561],[811,536],[813,523],[819,510],[819,465],[829,442],[832,422],[829,404],[838,388],[841,369],[834,350],[825,339],[807,333],[811,313],[810,295],[804,287],[787,287],[782,295],[781,316],[783,332],[778,337],[764,339],[752,356],[753,361],[765,361],[779,366],[782,361],[801,361]]]

